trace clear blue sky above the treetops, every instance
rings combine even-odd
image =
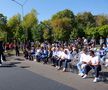
[[[16,1],[23,4],[26,0]],[[93,15],[108,15],[108,0],[27,0],[24,4],[24,15],[32,9],[38,12],[39,21],[50,19],[52,15],[64,9],[70,9],[75,15],[85,11]],[[22,15],[22,9],[12,0],[0,0],[0,13],[9,19],[17,13]]]

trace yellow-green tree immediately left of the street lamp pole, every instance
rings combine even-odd
[[[9,39],[18,39],[22,40],[24,35],[22,26],[21,26],[21,15],[16,14],[8,20],[7,23],[7,36]]]

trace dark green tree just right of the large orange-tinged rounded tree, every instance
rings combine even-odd
[[[78,36],[87,37],[88,28],[95,27],[96,21],[91,12],[78,13],[76,15]]]

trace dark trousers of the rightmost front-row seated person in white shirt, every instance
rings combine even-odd
[[[95,77],[99,77],[99,71],[101,71],[101,65],[97,66],[92,66],[92,65],[87,65],[85,67],[85,74],[88,74],[88,72],[93,69],[95,73]]]

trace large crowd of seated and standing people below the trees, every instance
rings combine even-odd
[[[102,43],[101,43],[102,42]],[[43,62],[43,64],[50,63],[57,70],[67,71],[71,70],[73,65],[77,66],[78,75],[86,78],[88,72],[94,70],[94,80],[99,80],[99,72],[101,65],[108,66],[108,39],[105,42],[100,40],[100,45],[96,46],[95,39],[87,40],[86,38],[78,38],[72,43],[55,42],[50,44],[48,42],[34,43],[28,42],[26,44],[5,44],[5,50],[15,49],[16,56],[19,56],[19,49],[23,50],[23,55],[26,60],[34,60]],[[3,57],[2,42],[0,42],[0,57]],[[0,64],[2,64],[0,60]]]

